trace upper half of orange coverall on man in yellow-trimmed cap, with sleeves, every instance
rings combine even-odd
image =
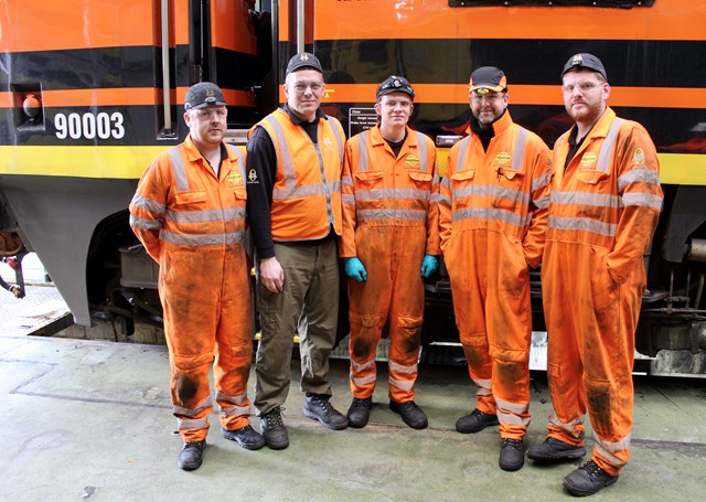
[[[446,249],[454,236],[466,231],[499,232],[521,241],[525,261],[536,267],[549,202],[549,165],[538,161],[546,156],[546,146],[514,124],[509,111],[493,127],[495,136],[488,151],[477,135],[469,135],[449,153],[439,199],[445,259],[449,259]]]

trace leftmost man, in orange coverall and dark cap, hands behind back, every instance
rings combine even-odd
[[[130,203],[130,226],[160,265],[159,293],[174,416],[184,446],[179,467],[201,466],[213,409],[214,362],[223,436],[255,450],[249,425],[253,355],[250,264],[245,237],[245,156],[223,142],[227,108],[212,83],[186,92],[183,143],[148,165]]]

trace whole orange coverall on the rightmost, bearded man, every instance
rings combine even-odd
[[[644,128],[610,108],[566,164],[569,132],[554,149],[542,268],[548,435],[582,445],[588,408],[593,461],[616,476],[630,455],[634,333],[643,253],[662,207],[660,167]]]

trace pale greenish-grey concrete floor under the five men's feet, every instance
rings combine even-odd
[[[181,439],[173,432],[165,348],[0,335],[0,500],[571,499],[560,481],[578,463],[539,468],[527,461],[504,472],[495,430],[454,431],[474,393],[463,367],[420,369],[417,403],[429,415],[428,429],[407,428],[378,388],[367,427],[331,431],[303,417],[297,366],[285,409],[288,449],[244,450],[221,437],[213,415],[204,464],[185,472],[176,467]],[[527,445],[544,439],[549,414],[545,375],[533,376]],[[385,382],[384,370],[379,377]],[[345,361],[332,361],[331,378],[332,402],[345,412]],[[254,377],[250,393],[253,385]],[[591,500],[704,500],[705,416],[703,380],[637,377],[631,463]],[[253,417],[256,428],[258,421]]]

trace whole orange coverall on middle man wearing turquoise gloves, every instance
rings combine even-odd
[[[375,352],[389,319],[388,393],[413,400],[424,316],[421,260],[439,255],[436,148],[406,127],[399,154],[378,126],[351,138],[343,161],[339,255],[357,257],[367,280],[349,280],[351,391],[373,395]]]

